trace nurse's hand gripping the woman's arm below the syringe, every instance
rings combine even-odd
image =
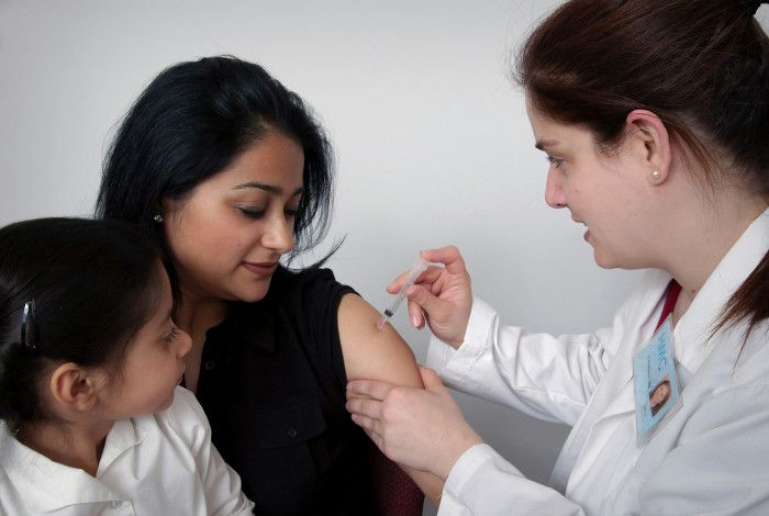
[[[347,384],[347,410],[391,460],[445,481],[457,459],[483,440],[435,371],[420,368],[420,374],[424,390],[353,380]]]

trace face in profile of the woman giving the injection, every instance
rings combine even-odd
[[[526,109],[536,147],[547,154],[547,204],[567,207],[587,226],[584,239],[599,266],[649,267],[655,232],[645,222],[644,180],[650,170],[639,170],[638,159],[623,149],[611,157],[599,154],[584,127],[554,122],[531,102]]]

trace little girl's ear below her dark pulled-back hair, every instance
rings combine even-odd
[[[51,395],[62,408],[90,411],[99,400],[98,394],[105,382],[104,372],[67,362],[57,367],[51,375]]]

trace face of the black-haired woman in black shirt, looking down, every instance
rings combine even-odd
[[[182,298],[258,301],[293,248],[304,153],[278,132],[242,153],[182,201],[163,203]]]

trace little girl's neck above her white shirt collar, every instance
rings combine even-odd
[[[113,424],[114,420],[26,424],[19,427],[15,438],[54,462],[81,469],[96,476]]]

